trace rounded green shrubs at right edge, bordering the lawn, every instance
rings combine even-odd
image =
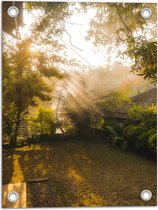
[[[124,129],[124,137],[128,144],[140,151],[156,153],[156,106],[143,108],[135,105],[129,109],[129,116],[139,121],[138,125],[129,125]]]

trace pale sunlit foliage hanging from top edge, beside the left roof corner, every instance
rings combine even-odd
[[[26,2],[24,3],[24,8],[28,13],[34,15],[34,11],[37,13],[40,11],[42,15],[34,15],[34,27],[32,27],[32,39],[37,45],[40,44],[42,48],[51,53],[50,62],[62,61],[61,54],[57,53],[65,49],[65,46],[61,44],[61,36],[65,30],[65,25],[63,20],[67,19],[71,15],[69,10],[68,2]],[[62,23],[62,24],[61,24]],[[56,39],[58,37],[58,39]],[[49,50],[48,50],[49,49]],[[50,52],[50,51],[49,51]],[[50,55],[50,53],[48,53]],[[47,54],[47,55],[48,55]],[[54,64],[53,62],[53,64]]]

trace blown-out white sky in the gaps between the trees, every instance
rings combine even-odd
[[[38,13],[33,11],[33,14],[38,17]],[[89,9],[87,13],[73,15],[69,22],[76,24],[66,23],[65,28],[71,35],[70,43],[69,36],[66,32],[62,35],[62,40],[68,47],[67,55],[69,58],[77,59],[83,65],[98,67],[109,66],[115,62],[118,62],[115,46],[106,45],[104,47],[95,48],[91,41],[85,39],[87,30],[89,28],[90,19],[95,16],[95,10]],[[24,11],[24,23],[25,26],[20,29],[21,36],[24,37],[30,34],[31,24],[34,22],[34,18],[31,13]],[[61,40],[58,40],[61,44]],[[64,43],[64,44],[65,44]],[[78,49],[79,48],[79,49]],[[72,50],[73,49],[73,50]],[[33,50],[33,49],[32,49]],[[75,52],[74,52],[75,51]],[[79,55],[83,58],[81,58]]]

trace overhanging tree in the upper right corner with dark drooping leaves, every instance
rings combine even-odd
[[[156,4],[83,3],[82,5],[87,9],[93,7],[96,11],[95,17],[90,22],[87,39],[93,41],[96,46],[113,43],[118,49],[119,56],[126,55],[131,58],[133,73],[155,82]],[[153,12],[149,20],[141,17],[141,10],[145,7],[151,8]],[[121,52],[119,45],[122,45]]]

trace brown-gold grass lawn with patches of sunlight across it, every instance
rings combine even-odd
[[[104,141],[63,140],[3,150],[3,183],[50,178],[63,206],[156,205],[156,163]],[[149,189],[150,201],[140,198]]]

